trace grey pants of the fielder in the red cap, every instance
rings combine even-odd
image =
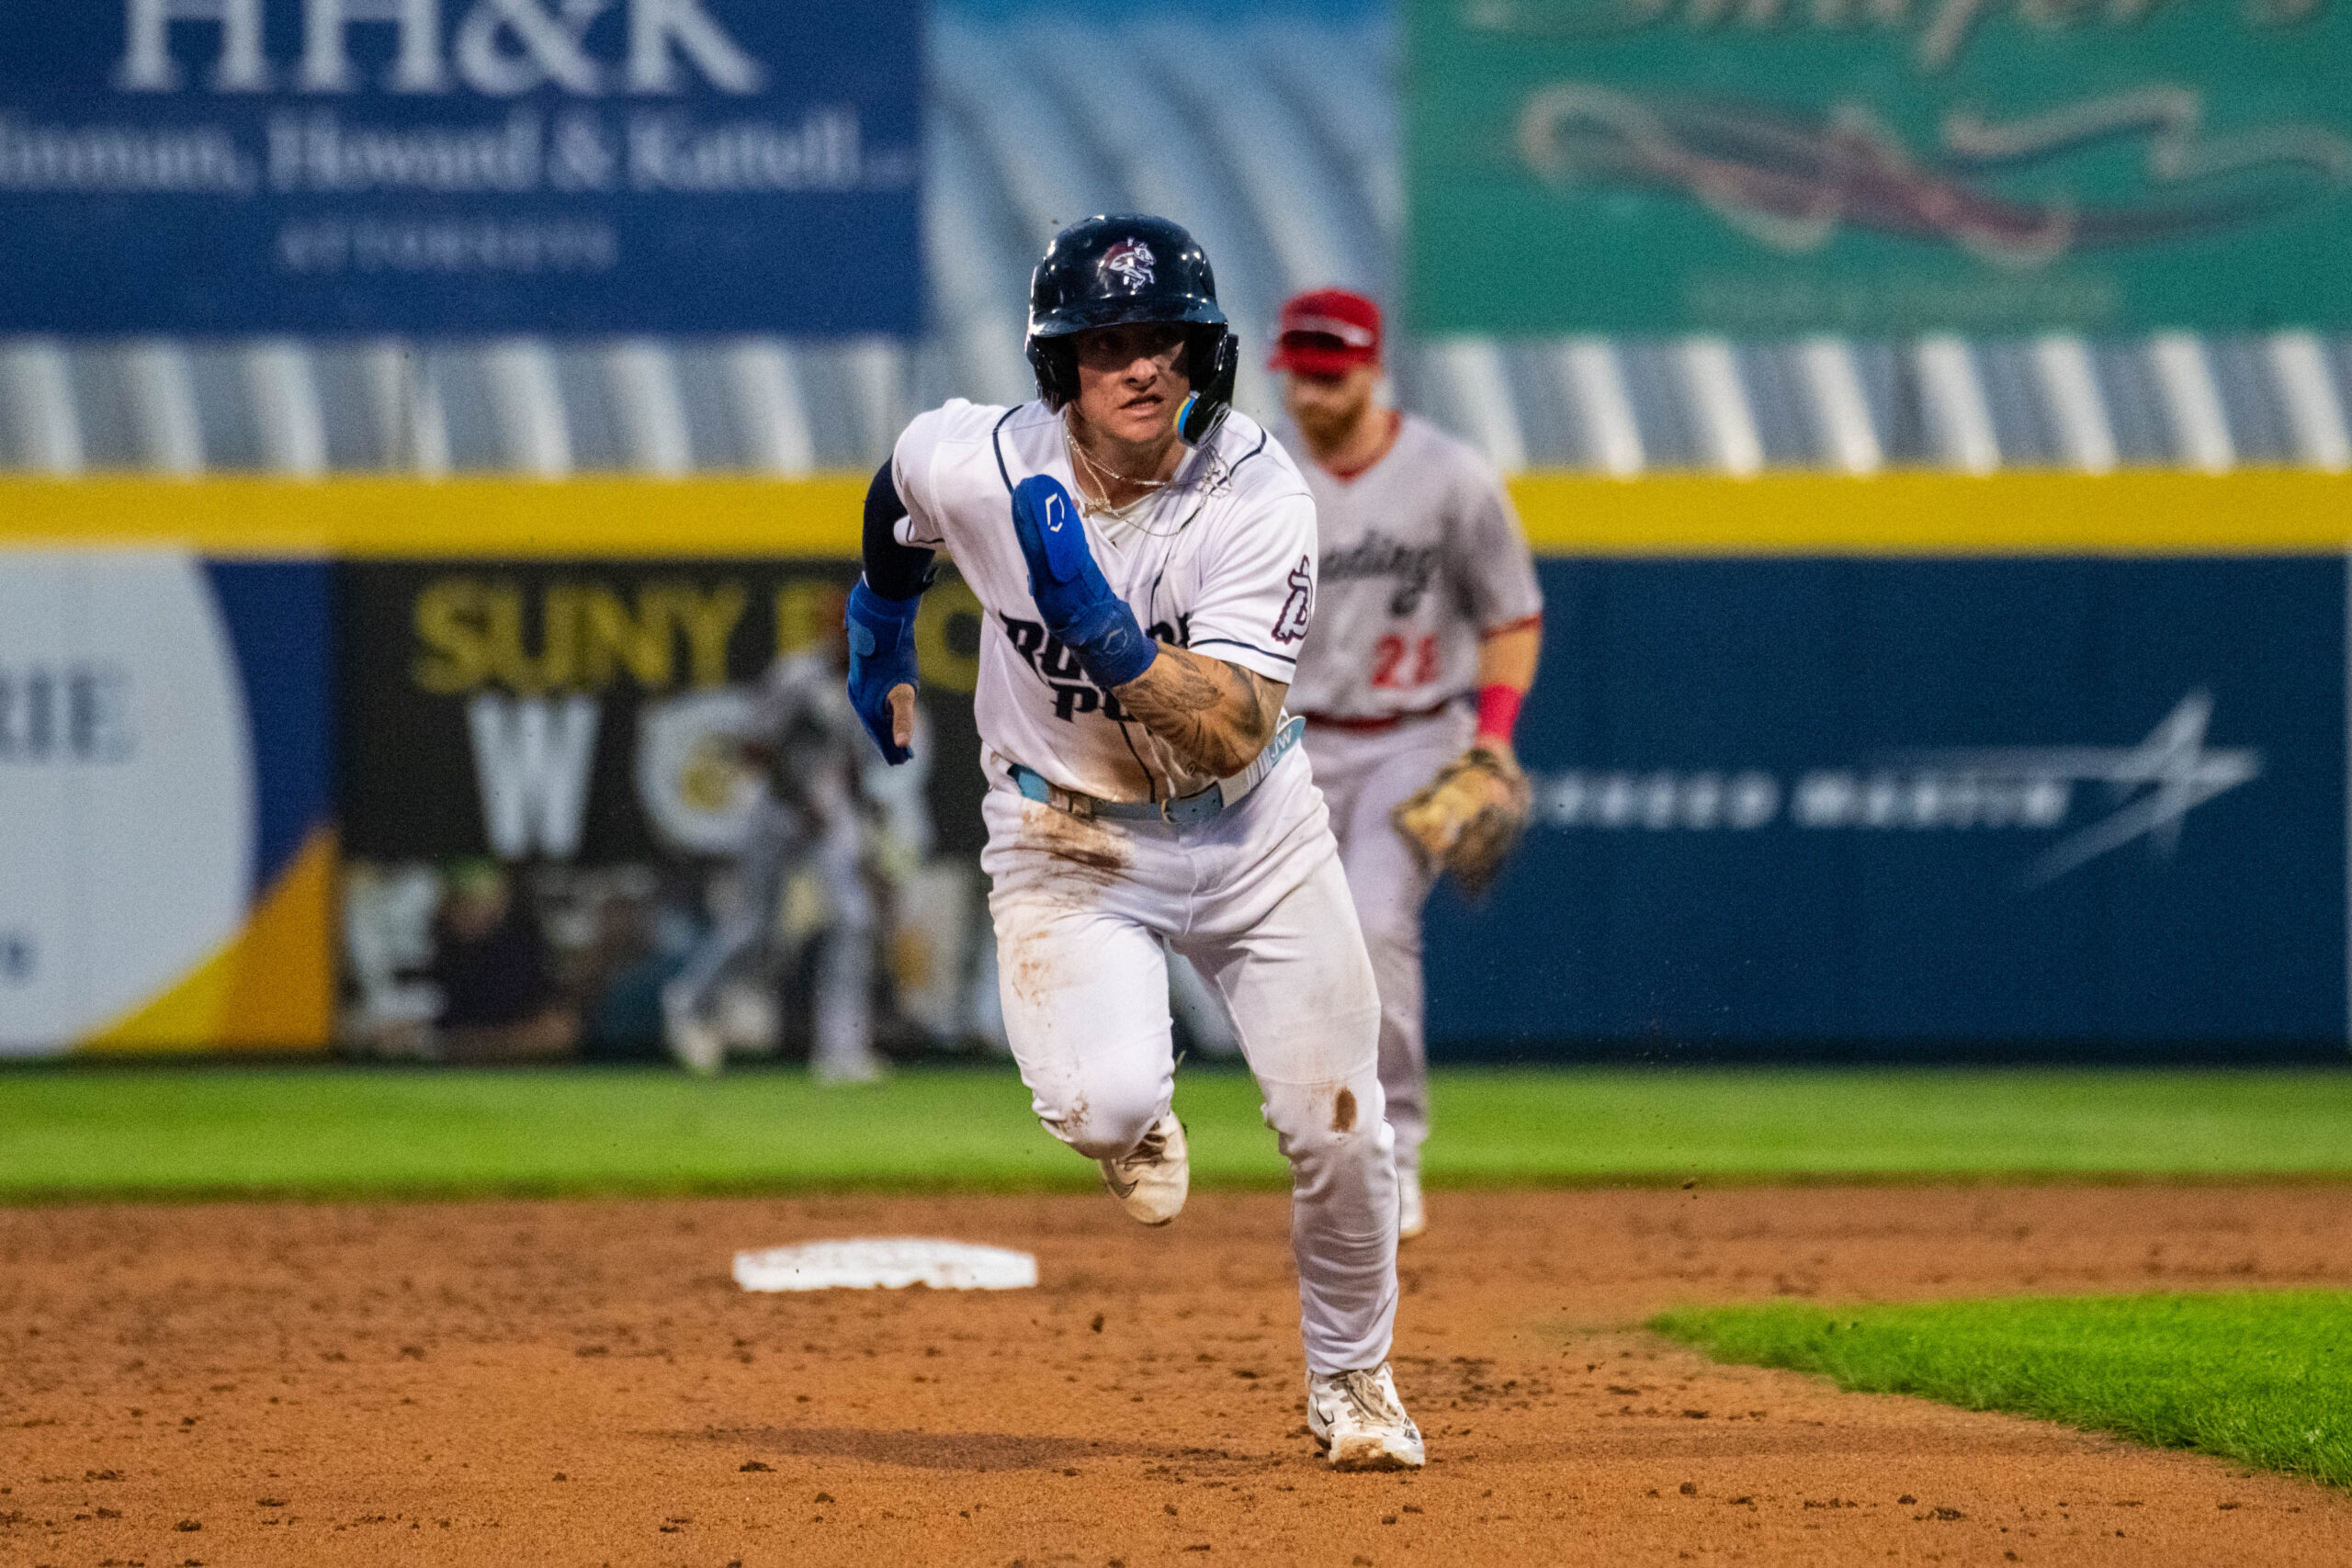
[[[1430,1053],[1421,1018],[1421,905],[1437,877],[1388,820],[1406,795],[1461,757],[1477,715],[1454,705],[1395,729],[1355,733],[1308,724],[1305,752],[1331,806],[1348,893],[1381,990],[1381,1091],[1397,1128],[1397,1166],[1421,1171],[1430,1138]]]

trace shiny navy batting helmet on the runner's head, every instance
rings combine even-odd
[[[1141,214],[1084,219],[1054,235],[1030,273],[1028,360],[1037,395],[1061,409],[1077,397],[1077,346],[1089,327],[1167,322],[1185,327],[1192,395],[1176,435],[1197,447],[1225,423],[1242,346],[1216,303],[1209,256],[1176,223]]]

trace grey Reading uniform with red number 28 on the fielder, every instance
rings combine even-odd
[[[1397,1164],[1418,1171],[1430,1131],[1421,1027],[1421,905],[1432,877],[1390,811],[1477,729],[1489,632],[1529,625],[1543,590],[1494,468],[1411,414],[1371,468],[1305,465],[1322,536],[1315,630],[1289,703],[1331,809],[1381,987],[1381,1086]]]

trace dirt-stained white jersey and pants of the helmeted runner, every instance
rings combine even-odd
[[[1308,1366],[1388,1359],[1397,1178],[1378,1001],[1322,795],[1287,755],[1214,820],[1084,818],[1025,799],[1014,764],[1112,802],[1214,780],[1096,689],[1028,592],[1011,491],[1080,494],[1044,404],[950,402],[898,437],[898,541],[946,548],[985,611],[974,710],[988,771],[990,912],[1004,1032],[1044,1126],[1124,1157],[1169,1107],[1167,950],[1223,994],[1294,1173]],[[1155,637],[1289,682],[1315,609],[1315,503],[1289,454],[1232,414],[1124,520],[1091,515],[1105,581]]]

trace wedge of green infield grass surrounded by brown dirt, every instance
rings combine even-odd
[[[1705,1307],[1651,1328],[1825,1373],[2352,1486],[2352,1293]]]

